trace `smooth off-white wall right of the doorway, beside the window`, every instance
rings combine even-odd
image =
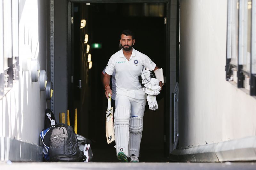
[[[256,135],[256,98],[225,80],[227,1],[180,2],[180,139],[193,147]]]

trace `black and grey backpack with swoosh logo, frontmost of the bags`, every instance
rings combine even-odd
[[[52,162],[79,162],[85,159],[71,126],[59,123],[51,128],[49,157]]]

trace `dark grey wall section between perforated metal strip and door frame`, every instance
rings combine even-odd
[[[67,0],[54,1],[54,110],[59,113],[68,108],[68,7]]]

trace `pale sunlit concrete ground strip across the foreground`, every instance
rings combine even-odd
[[[65,169],[91,169],[91,170],[255,170],[256,163],[104,163],[104,162],[89,162],[89,163],[47,163],[47,162],[23,162],[12,163],[10,161],[0,162],[0,168],[18,169],[18,170],[65,170]]]

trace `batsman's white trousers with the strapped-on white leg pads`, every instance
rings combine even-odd
[[[124,152],[139,157],[143,116],[147,95],[141,89],[120,90],[116,88],[115,139],[116,154]]]

